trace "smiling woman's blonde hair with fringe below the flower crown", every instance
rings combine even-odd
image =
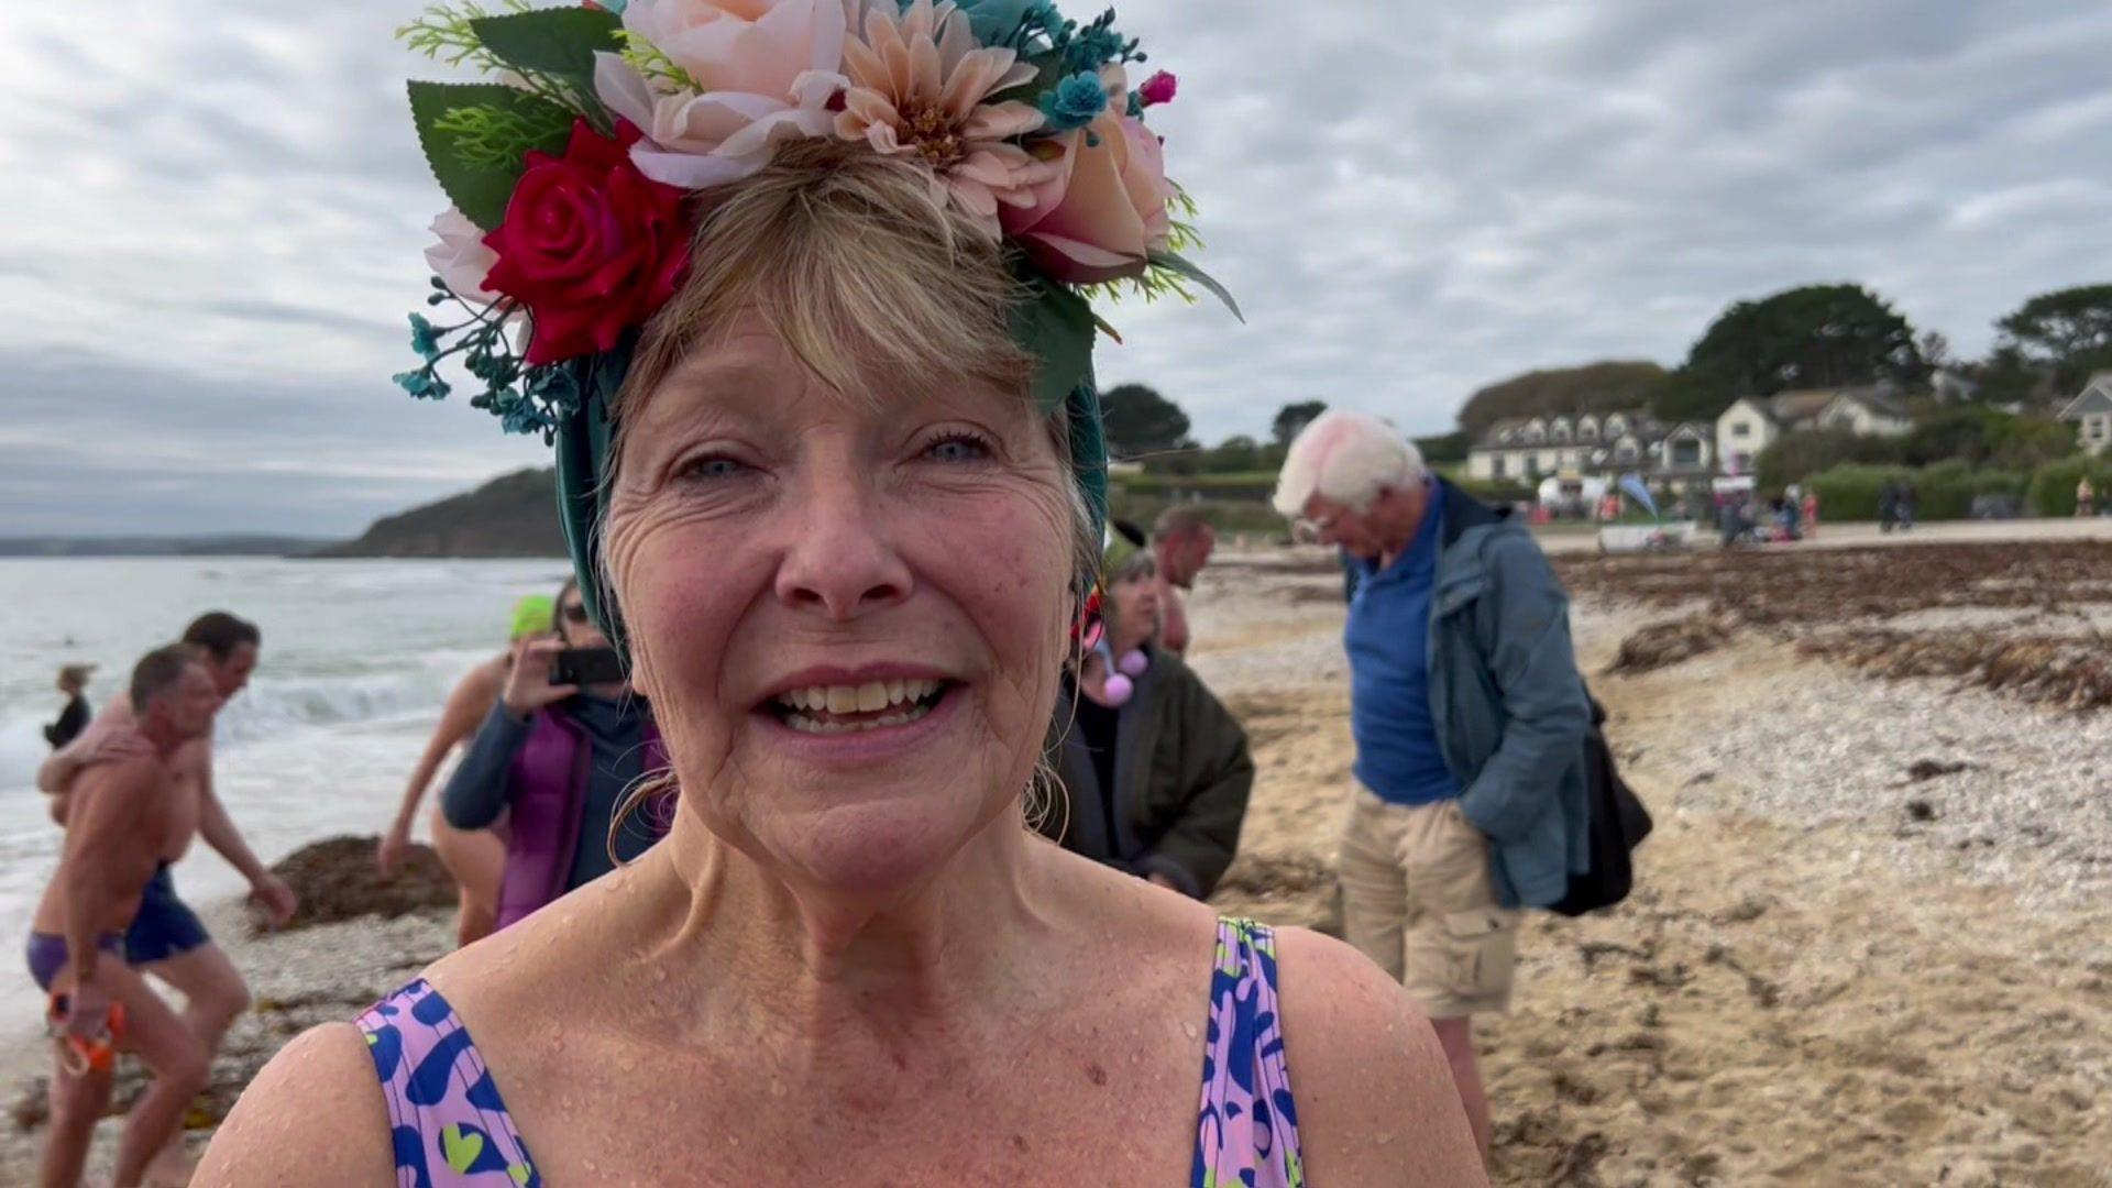
[[[1007,323],[1018,283],[999,245],[950,209],[929,171],[864,146],[807,140],[701,201],[689,279],[640,336],[610,410],[617,440],[608,474],[621,467],[625,423],[638,404],[684,357],[722,342],[743,315],[760,317],[841,400],[870,402],[879,400],[874,391],[919,391],[934,380],[1029,400],[1035,359]],[[1069,471],[1069,410],[1043,423]],[[1083,598],[1098,577],[1100,550],[1083,493],[1077,482],[1067,486],[1073,590]],[[606,507],[604,499],[604,516]],[[600,539],[606,550],[608,533]],[[604,598],[621,607],[606,554],[600,573]],[[631,641],[634,653],[642,643]],[[1052,729],[1050,746],[1056,740],[1060,731]],[[1031,778],[1033,799],[1054,782],[1043,755]],[[615,829],[642,803],[672,793],[672,772],[640,780],[617,810],[610,854]]]

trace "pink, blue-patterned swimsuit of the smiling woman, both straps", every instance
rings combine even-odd
[[[543,1184],[492,1072],[425,979],[359,1017],[389,1099],[399,1188]],[[1276,934],[1219,920],[1191,1188],[1303,1188],[1299,1120],[1276,1013]]]

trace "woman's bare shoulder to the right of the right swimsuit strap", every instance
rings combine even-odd
[[[1276,934],[1299,1144],[1314,1184],[1485,1184],[1430,1019],[1362,953]]]

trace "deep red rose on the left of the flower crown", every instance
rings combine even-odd
[[[623,120],[615,140],[574,123],[562,159],[528,154],[505,222],[484,237],[498,254],[484,285],[534,315],[530,366],[612,349],[689,273],[684,194],[631,165],[642,135]]]

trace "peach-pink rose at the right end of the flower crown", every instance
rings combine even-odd
[[[1039,144],[1062,152],[1056,178],[1033,190],[1033,205],[999,211],[1005,235],[1071,285],[1140,275],[1174,228],[1159,140],[1109,108],[1090,127]]]

